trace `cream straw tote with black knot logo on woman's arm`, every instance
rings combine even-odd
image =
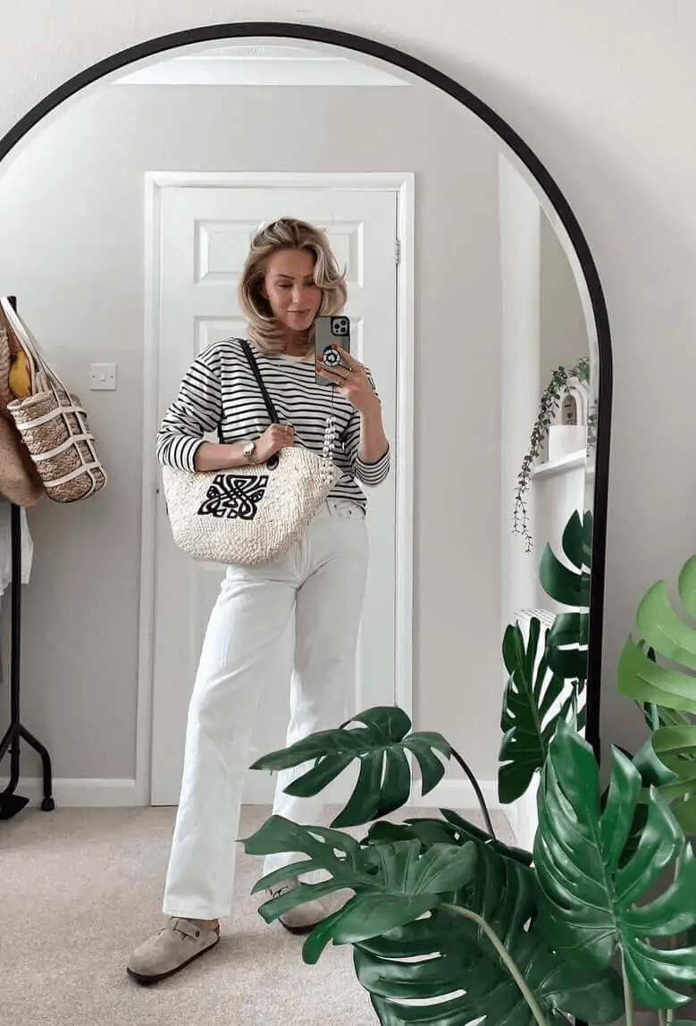
[[[244,353],[271,421],[280,424],[248,343]],[[300,445],[263,464],[194,472],[162,468],[167,515],[176,545],[197,559],[258,565],[298,542],[341,471],[331,462],[334,422],[327,421],[323,456]]]

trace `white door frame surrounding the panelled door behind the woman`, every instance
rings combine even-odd
[[[145,303],[140,599],[135,725],[135,804],[151,799],[157,509],[155,457],[158,423],[160,232],[162,191],[167,188],[341,189],[397,193],[397,408],[392,473],[396,480],[396,680],[395,704],[413,708],[413,427],[414,427],[414,187],[413,171],[148,171],[145,175]]]

